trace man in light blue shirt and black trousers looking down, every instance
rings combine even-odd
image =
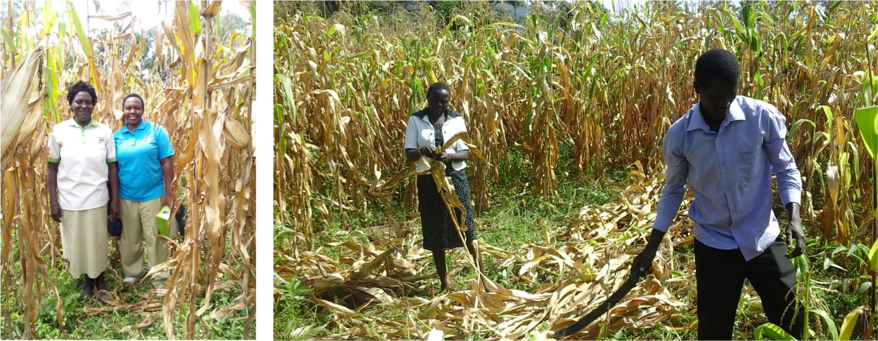
[[[702,54],[694,74],[699,102],[665,135],[665,188],[650,241],[632,269],[648,272],[688,183],[695,195],[689,217],[699,340],[731,339],[745,278],[759,294],[768,321],[801,339],[804,314],[795,300],[789,258],[802,254],[805,245],[802,180],[787,146],[786,119],[771,104],[737,96],[740,69],[728,51]],[[771,210],[772,173],[789,217],[786,238]],[[793,240],[793,252],[785,255],[785,243]]]

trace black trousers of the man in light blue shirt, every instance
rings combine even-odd
[[[695,240],[698,339],[731,340],[744,279],[762,300],[768,321],[802,339],[804,310],[795,300],[795,268],[780,237],[754,259],[739,249],[719,250]]]

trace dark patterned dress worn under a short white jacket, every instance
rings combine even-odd
[[[451,111],[453,113],[453,111]],[[453,115],[453,114],[452,114]],[[459,114],[458,114],[459,115]],[[449,118],[446,111],[446,119]],[[435,145],[441,148],[445,144],[442,134],[442,124],[433,124],[435,130]],[[437,148],[437,149],[438,149]],[[457,213],[457,224],[466,224],[466,231],[462,233],[466,238],[467,245],[476,239],[476,224],[472,215],[470,202],[470,182],[466,180],[466,168],[455,170],[451,167],[451,161],[445,161],[445,175],[451,177],[457,198],[466,209],[466,217],[461,219],[461,212]],[[442,202],[442,197],[436,190],[432,174],[418,175],[418,210],[421,211],[421,231],[424,237],[424,249],[429,251],[444,251],[463,246],[460,237],[455,231],[454,223],[448,214],[448,209]]]

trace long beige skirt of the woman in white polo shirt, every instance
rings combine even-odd
[[[91,210],[61,210],[61,251],[70,275],[96,278],[107,268],[107,205]]]

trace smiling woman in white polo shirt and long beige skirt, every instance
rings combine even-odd
[[[104,281],[110,251],[106,214],[112,220],[119,217],[116,145],[110,127],[91,119],[97,103],[94,87],[76,82],[68,89],[67,102],[73,118],[55,124],[49,137],[49,206],[52,219],[61,223],[61,247],[70,275],[85,274],[80,298],[90,295],[94,286],[109,301]]]

